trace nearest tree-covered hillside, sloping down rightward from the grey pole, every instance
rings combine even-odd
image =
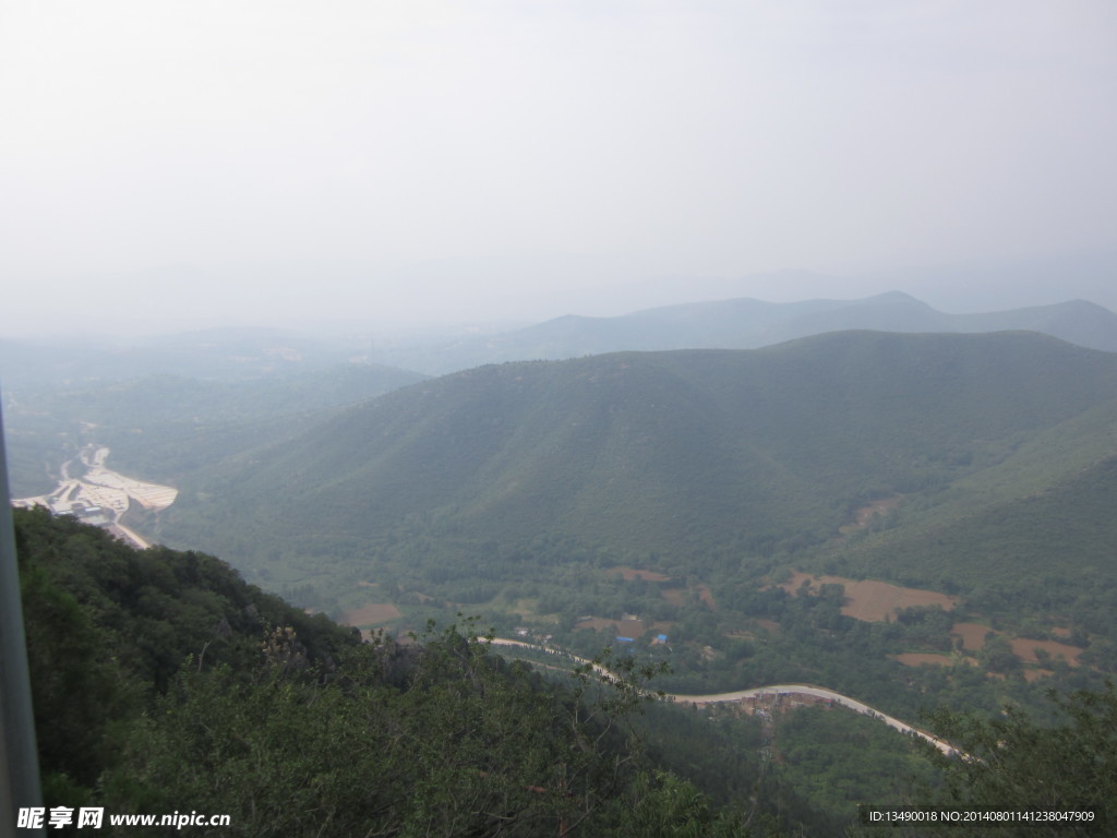
[[[468,626],[361,642],[211,556],[38,510],[16,530],[47,806],[250,836],[775,831],[649,760],[632,669],[556,688]]]

